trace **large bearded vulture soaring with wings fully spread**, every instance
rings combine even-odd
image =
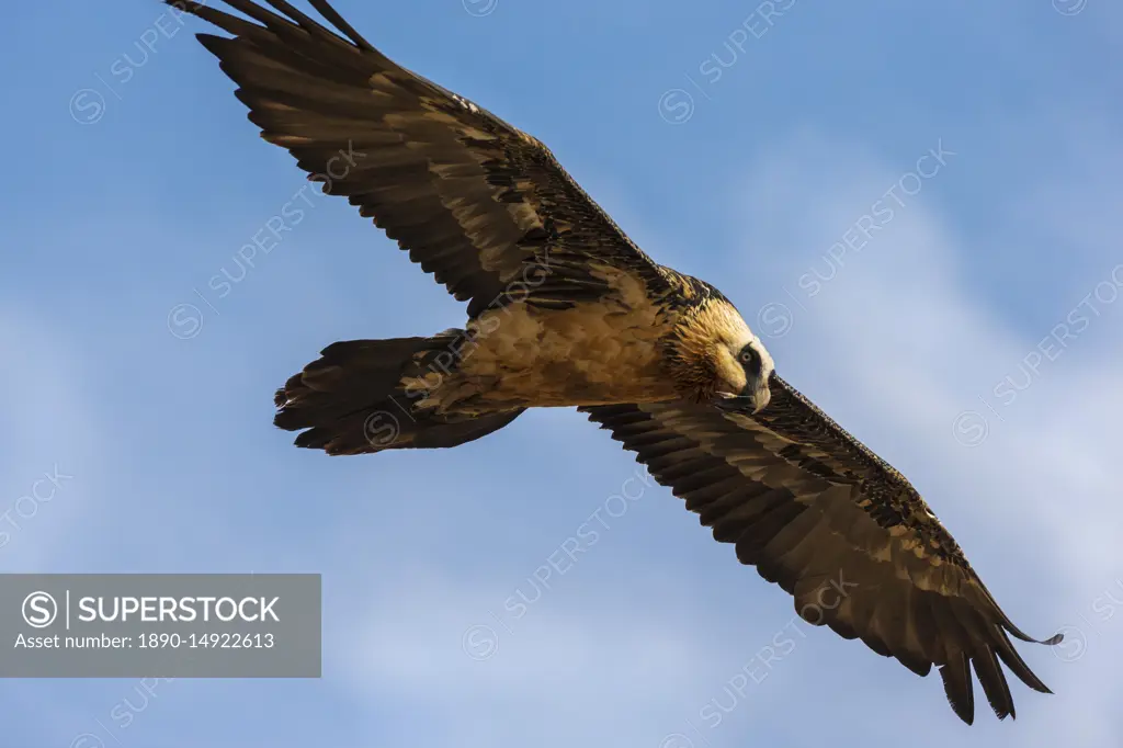
[[[1050,693],[916,490],[783,380],[712,285],[657,264],[530,135],[398,65],[325,0],[165,0],[262,137],[346,197],[467,302],[464,329],[347,340],[276,392],[275,423],[331,455],[455,447],[527,408],[576,407],[636,453],[796,611],[919,675],[955,713],[971,671],[998,718],[1003,667]],[[332,28],[323,24],[326,21]],[[1056,644],[1053,637],[1042,644]]]

